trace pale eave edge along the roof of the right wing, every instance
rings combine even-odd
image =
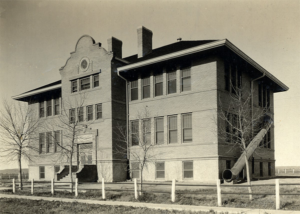
[[[267,70],[262,68],[259,64],[257,64],[254,60],[252,60],[245,53],[243,53],[241,50],[239,50],[236,46],[234,46],[227,39],[218,40],[218,41],[215,41],[215,42],[207,43],[207,44],[204,44],[204,45],[196,46],[196,47],[193,47],[193,48],[185,49],[185,50],[174,52],[174,53],[171,53],[171,54],[166,54],[166,55],[163,55],[163,56],[155,57],[155,58],[152,58],[152,59],[144,60],[144,61],[133,63],[133,64],[130,64],[130,65],[125,65],[125,66],[117,68],[117,71],[118,72],[128,71],[128,70],[131,70],[131,69],[135,69],[135,68],[155,64],[155,63],[159,63],[159,62],[162,62],[162,61],[166,61],[166,60],[170,60],[170,59],[173,59],[173,58],[178,58],[178,57],[182,57],[182,56],[186,56],[186,55],[190,55],[190,54],[194,54],[194,53],[198,53],[198,52],[202,52],[202,51],[217,48],[217,47],[220,47],[220,46],[227,47],[233,53],[237,54],[243,60],[245,60],[250,65],[252,65],[254,68],[256,68],[258,71],[260,71],[262,74],[264,73],[264,75],[266,77],[268,77],[270,80],[272,80],[278,86],[280,86],[283,89],[282,91],[287,91],[288,90],[288,87],[286,85],[284,85],[282,82],[280,82],[276,77],[274,77],[272,74],[270,74]]]

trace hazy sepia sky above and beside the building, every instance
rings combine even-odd
[[[84,34],[105,49],[116,37],[123,57],[136,54],[141,25],[153,32],[153,48],[178,37],[226,38],[289,87],[274,95],[275,163],[299,166],[299,3],[0,0],[0,99],[59,80],[58,69]]]

